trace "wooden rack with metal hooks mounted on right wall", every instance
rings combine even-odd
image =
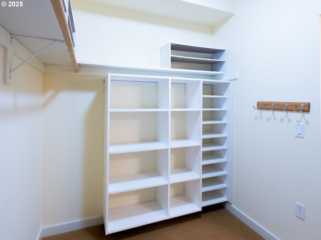
[[[303,101],[257,101],[255,109],[295,111],[295,112],[308,111],[309,112],[310,111],[310,102],[303,102]]]

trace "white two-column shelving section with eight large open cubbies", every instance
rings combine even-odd
[[[106,234],[201,210],[202,80],[109,73]]]

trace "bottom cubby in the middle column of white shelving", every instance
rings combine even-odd
[[[201,210],[201,179],[170,185],[170,217]]]

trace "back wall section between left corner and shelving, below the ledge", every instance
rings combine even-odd
[[[44,76],[44,227],[102,215],[103,80]]]

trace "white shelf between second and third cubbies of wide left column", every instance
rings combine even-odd
[[[109,146],[109,153],[125,153],[135,151],[148,151],[166,149],[168,145],[159,141],[139,141],[139,142],[128,142],[128,143],[112,143]]]

